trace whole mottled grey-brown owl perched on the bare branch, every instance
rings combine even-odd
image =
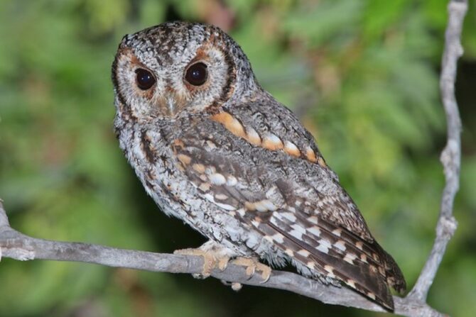
[[[126,35],[112,81],[121,150],[158,207],[209,239],[203,255],[289,263],[393,310],[401,270],[229,35],[186,22]]]

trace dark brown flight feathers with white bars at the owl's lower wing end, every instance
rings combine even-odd
[[[330,231],[332,224],[321,219],[317,226],[305,223],[303,219],[296,221],[290,225],[285,219],[272,217],[268,223],[260,223],[259,230],[265,237],[274,239],[278,248],[310,269],[311,273],[340,280],[393,311],[394,301],[389,286],[402,291],[405,281],[393,258],[382,247],[375,241],[363,241],[342,228],[335,227],[340,230],[334,228]]]

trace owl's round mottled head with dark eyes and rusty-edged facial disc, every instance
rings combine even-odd
[[[136,118],[215,111],[259,89],[232,38],[215,26],[186,22],[124,36],[112,80],[118,110]]]

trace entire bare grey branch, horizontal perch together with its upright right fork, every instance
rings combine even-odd
[[[418,277],[415,287],[413,287],[409,295],[404,299],[394,296],[394,312],[403,316],[443,316],[442,313],[426,304],[426,296],[436,276],[446,245],[457,226],[452,213],[454,197],[459,186],[461,123],[458,105],[455,101],[454,84],[456,62],[463,53],[460,45],[460,33],[466,11],[466,0],[453,0],[448,5],[449,21],[446,30],[443,69],[440,80],[443,105],[448,121],[448,143],[441,155],[446,184],[443,190],[440,218],[436,228],[436,240],[433,250],[428,257],[426,265],[423,267],[420,277]],[[0,200],[0,259],[2,255],[22,261],[58,260],[87,262],[109,267],[188,274],[200,274],[204,265],[202,257],[192,255],[122,250],[102,245],[66,243],[31,238],[10,227]],[[369,301],[369,299],[351,289],[322,284],[319,281],[291,272],[274,270],[271,273],[271,277],[264,282],[259,274],[249,278],[244,267],[230,263],[224,271],[214,269],[211,276],[227,282],[292,291],[326,304],[357,307],[369,311],[385,311],[381,306],[373,301]]]

